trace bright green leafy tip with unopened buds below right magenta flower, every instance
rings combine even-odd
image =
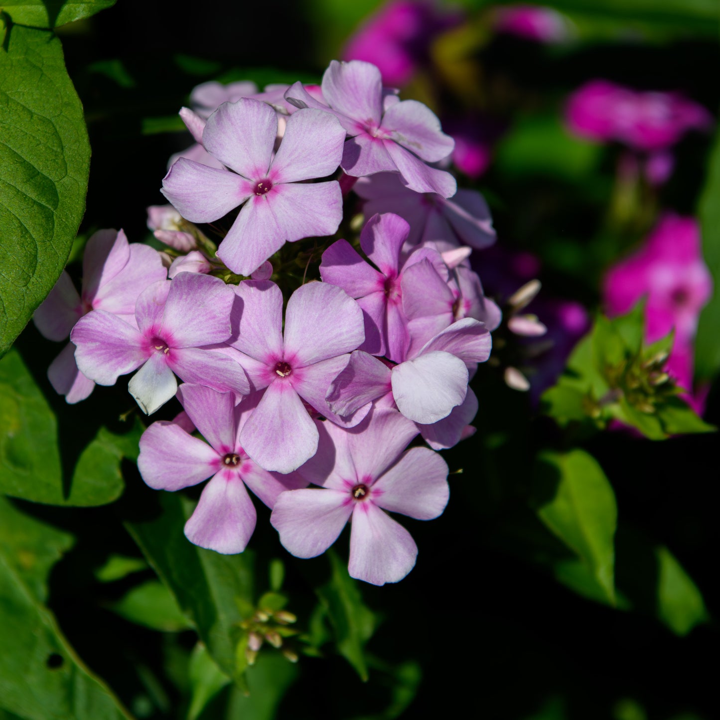
[[[672,333],[646,346],[642,302],[627,315],[598,315],[577,343],[564,374],[542,396],[544,411],[561,426],[604,428],[615,418],[651,440],[715,428],[680,400],[665,372]]]

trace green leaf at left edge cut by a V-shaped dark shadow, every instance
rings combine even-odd
[[[139,420],[126,435],[100,428],[68,482],[58,450],[58,421],[17,351],[0,361],[0,492],[50,505],[105,505],[120,497],[122,457],[135,459]]]

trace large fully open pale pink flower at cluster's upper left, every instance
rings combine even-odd
[[[165,197],[192,222],[213,222],[242,206],[217,250],[238,274],[251,274],[286,241],[332,235],[342,219],[337,181],[304,182],[336,171],[345,138],[336,118],[294,113],[273,156],[276,133],[268,104],[224,103],[207,120],[202,142],[230,170],[181,158],[163,179]]]

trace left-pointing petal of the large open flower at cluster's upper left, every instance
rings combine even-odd
[[[229,170],[180,158],[163,178],[160,192],[187,220],[212,222],[245,202],[253,187]]]

